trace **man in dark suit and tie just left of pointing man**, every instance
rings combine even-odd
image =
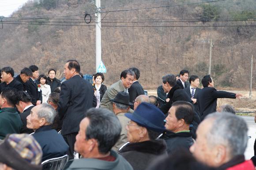
[[[200,88],[198,88],[200,84],[199,77],[196,75],[190,76],[189,83],[190,83],[190,86],[185,88],[184,91],[188,93],[188,96],[193,101],[196,113],[199,114],[199,108],[197,103],[197,94],[201,90]]]

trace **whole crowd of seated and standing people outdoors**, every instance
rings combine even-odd
[[[109,88],[102,73],[83,79],[76,60],[63,74],[60,83],[54,69],[1,69],[0,170],[40,170],[66,154],[65,170],[255,170],[246,122],[230,105],[217,111],[218,98],[242,95],[218,91],[210,75],[200,89],[188,70],[167,74],[147,96],[136,67]]]

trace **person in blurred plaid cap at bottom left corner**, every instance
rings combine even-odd
[[[11,134],[0,143],[0,170],[41,170],[42,150],[33,136]]]

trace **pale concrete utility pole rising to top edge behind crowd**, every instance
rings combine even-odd
[[[95,6],[96,6],[96,73],[97,68],[102,61],[102,24],[101,24],[101,0],[95,0]]]

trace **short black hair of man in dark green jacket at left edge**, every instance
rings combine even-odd
[[[14,88],[4,88],[2,89],[2,93],[1,93],[2,98],[5,98],[7,103],[13,107],[15,107],[15,104],[18,100],[18,96],[17,96],[17,90]]]

